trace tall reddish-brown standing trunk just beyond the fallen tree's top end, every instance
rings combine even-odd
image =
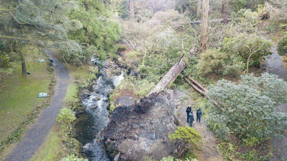
[[[201,27],[201,34],[199,40],[199,51],[198,53],[203,52],[207,45],[207,18],[208,18],[208,10],[209,10],[209,0],[204,0],[203,4],[204,12],[203,12],[203,19],[202,19],[202,27]]]

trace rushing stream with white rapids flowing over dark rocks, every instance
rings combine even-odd
[[[91,58],[95,64],[100,61]],[[82,99],[83,106],[86,107],[84,113],[79,114],[76,120],[75,138],[83,144],[82,155],[89,160],[111,160],[104,150],[104,145],[98,143],[98,133],[103,129],[109,121],[109,98],[107,94],[116,87],[122,79],[123,74],[119,76],[107,77],[106,62],[102,62],[103,66],[99,67],[101,75],[96,80],[97,83],[92,85],[91,96]],[[96,108],[93,108],[97,105]]]

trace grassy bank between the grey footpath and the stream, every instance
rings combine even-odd
[[[64,100],[66,101],[66,107],[72,108],[75,102],[79,104],[77,96],[79,89],[86,87],[89,81],[95,79],[96,76],[90,73],[89,65],[87,64],[83,64],[80,67],[72,64],[69,64],[69,66],[66,65],[66,68],[69,70],[73,83],[68,85]],[[76,154],[80,148],[78,141],[61,131],[61,124],[57,122],[49,132],[43,145],[30,160],[60,160],[69,154]],[[67,140],[72,141],[68,143]]]

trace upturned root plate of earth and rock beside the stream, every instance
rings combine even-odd
[[[144,97],[139,103],[119,106],[101,131],[111,158],[119,152],[120,160],[143,160],[145,156],[161,159],[173,155],[175,145],[168,134],[176,130],[177,101],[163,91]],[[118,156],[117,156],[118,157]]]

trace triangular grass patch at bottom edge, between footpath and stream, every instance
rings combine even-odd
[[[30,159],[33,161],[60,160],[65,157],[65,146],[62,144],[60,125],[56,123],[49,132],[45,142],[39,148],[39,151]]]

